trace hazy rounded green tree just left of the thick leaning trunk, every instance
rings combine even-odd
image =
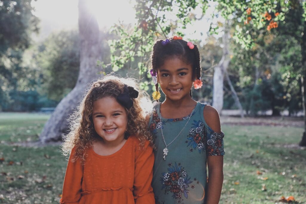
[[[79,75],[79,33],[61,31],[51,34],[39,45],[34,58],[42,69],[43,90],[48,98],[59,102],[73,89]]]

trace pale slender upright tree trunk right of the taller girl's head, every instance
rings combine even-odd
[[[222,58],[219,61],[218,65],[215,66],[214,78],[213,78],[213,98],[212,98],[212,106],[218,111],[221,115],[223,108],[223,79],[224,73],[230,63],[230,59],[228,57],[228,29],[225,27],[223,39],[223,53]]]

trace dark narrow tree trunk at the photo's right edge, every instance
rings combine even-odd
[[[303,110],[304,110],[304,133],[302,140],[299,145],[305,147],[306,146],[306,21],[304,21],[304,32],[301,42],[301,50],[302,50],[302,101],[303,101]]]

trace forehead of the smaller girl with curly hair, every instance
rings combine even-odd
[[[111,113],[117,110],[125,112],[125,108],[117,102],[116,98],[110,96],[100,98],[94,101],[92,105],[93,114],[95,112]]]

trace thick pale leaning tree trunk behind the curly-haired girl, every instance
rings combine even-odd
[[[79,0],[79,35],[80,35],[80,72],[73,90],[62,99],[54,113],[45,124],[40,134],[42,143],[58,141],[69,129],[69,114],[73,113],[81,101],[87,84],[99,78],[100,70],[96,66],[101,57],[99,27],[96,18],[86,5],[86,0]],[[69,76],[67,76],[69,77]]]

